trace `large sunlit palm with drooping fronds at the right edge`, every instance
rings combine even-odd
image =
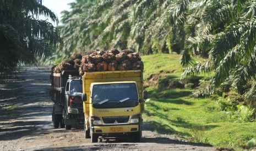
[[[214,3],[209,4],[209,7],[212,5],[212,8],[214,8]],[[210,94],[213,94],[215,88],[228,85],[235,88],[239,94],[248,96],[249,99],[255,98],[256,19],[254,12],[256,2],[223,1],[221,4],[217,5],[219,8],[215,7],[216,13],[211,11],[210,18],[208,18],[208,20],[219,18],[218,22],[223,27],[211,26],[210,28],[210,31],[215,32],[211,32],[211,35],[209,35],[209,37],[212,37],[208,41],[210,45],[208,47],[210,50],[209,60],[201,63],[186,60],[186,58],[193,55],[193,52],[190,50],[184,51],[181,59],[182,65],[187,67],[191,63],[192,67],[186,68],[183,77],[213,71],[214,76],[208,85]],[[201,13],[205,14],[204,11],[201,11]],[[207,16],[204,14],[201,14],[199,21],[207,20],[205,18]],[[204,44],[203,38],[199,37],[197,41],[199,40]]]

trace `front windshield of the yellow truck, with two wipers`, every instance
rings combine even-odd
[[[138,92],[135,83],[99,84],[92,88],[94,108],[135,107]]]

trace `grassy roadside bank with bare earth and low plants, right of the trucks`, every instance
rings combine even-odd
[[[189,142],[235,149],[256,146],[254,109],[235,91],[195,97],[194,89],[210,75],[181,80],[180,55],[143,56],[144,80],[149,99],[144,120],[159,133]],[[198,61],[201,59],[197,59]]]

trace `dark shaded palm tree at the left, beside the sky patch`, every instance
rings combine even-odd
[[[7,75],[17,65],[32,65],[47,57],[61,42],[57,29],[39,15],[58,22],[57,16],[39,0],[0,1],[0,74]]]

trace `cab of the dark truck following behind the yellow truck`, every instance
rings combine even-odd
[[[83,101],[81,94],[83,85],[80,76],[69,77],[64,89],[63,119],[65,128],[70,130],[72,125],[84,124]]]

